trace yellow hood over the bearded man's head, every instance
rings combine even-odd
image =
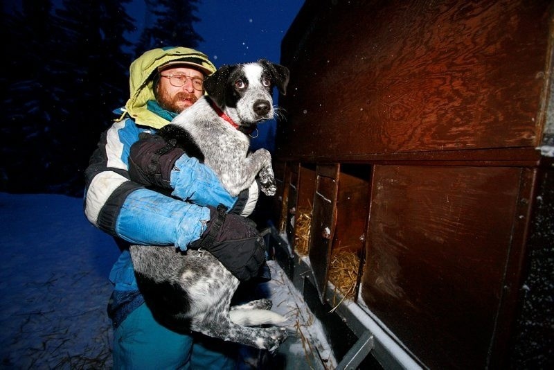
[[[152,77],[161,65],[172,60],[191,57],[202,60],[204,68],[211,73],[215,72],[215,66],[204,53],[183,47],[152,49],[132,62],[129,68],[131,98],[127,100],[125,108],[137,125],[159,129],[169,123],[166,119],[150,112],[146,107],[148,100],[155,100],[154,91],[152,91]]]

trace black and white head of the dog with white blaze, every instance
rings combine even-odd
[[[220,109],[247,130],[273,118],[273,87],[285,95],[288,83],[287,67],[262,59],[220,67],[204,80],[204,89]]]

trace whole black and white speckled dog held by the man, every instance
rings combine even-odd
[[[249,132],[275,114],[271,91],[285,94],[286,67],[259,60],[224,66],[206,78],[208,96],[184,110],[159,134],[176,140],[220,177],[231,195],[249,188],[260,173],[262,191],[276,191],[271,155],[249,153]],[[259,299],[231,307],[239,281],[208,252],[171,247],[130,248],[137,282],[156,319],[179,331],[197,331],[222,340],[274,351],[287,338],[285,318]],[[269,328],[252,328],[271,324]]]

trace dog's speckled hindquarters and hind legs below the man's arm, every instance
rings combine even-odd
[[[152,315],[172,330],[196,331],[221,340],[274,351],[287,339],[285,318],[269,299],[232,306],[239,281],[208,252],[131,246],[136,280]]]

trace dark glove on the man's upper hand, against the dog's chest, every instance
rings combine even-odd
[[[159,135],[142,133],[139,138],[129,152],[129,176],[146,186],[170,188],[171,170],[184,151]]]

